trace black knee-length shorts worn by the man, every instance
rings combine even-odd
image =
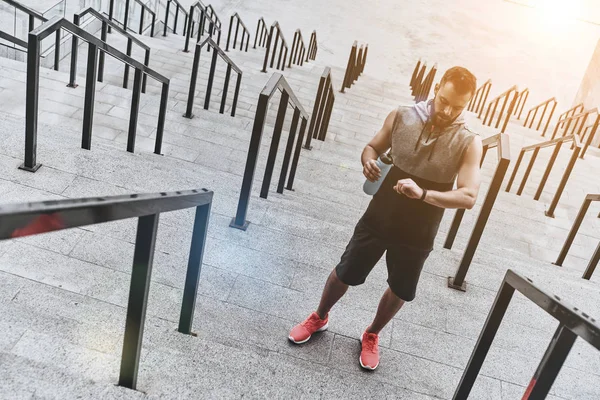
[[[390,289],[404,301],[414,300],[423,264],[431,250],[388,244],[366,227],[362,220],[356,225],[354,235],[335,267],[338,278],[350,286],[364,283],[386,250]]]

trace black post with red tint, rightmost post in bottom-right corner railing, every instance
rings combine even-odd
[[[554,384],[554,380],[558,376],[577,335],[569,328],[560,324],[554,333],[554,337],[550,341],[542,361],[538,365],[527,392],[525,399],[545,399],[550,392],[550,388]]]

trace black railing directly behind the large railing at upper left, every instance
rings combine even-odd
[[[80,22],[83,20],[83,17],[86,15],[91,15],[97,20],[102,22],[102,29],[100,33],[100,40],[106,42],[108,39],[108,28],[114,29],[116,32],[119,32],[121,35],[127,38],[127,50],[126,53],[128,57],[131,57],[131,52],[133,48],[133,44],[140,46],[144,52],[144,62],[143,64],[148,67],[150,63],[150,47],[146,46],[142,41],[129,34],[125,29],[121,28],[114,21],[111,21],[104,14],[99,13],[92,7],[88,7],[84,10],[79,11],[73,15],[73,23],[77,26],[80,26]],[[77,87],[77,57],[79,52],[79,39],[76,35],[73,35],[72,44],[71,44],[71,75],[69,79],[69,84],[67,86],[75,88]],[[104,52],[100,52],[98,55],[98,82],[104,81]],[[148,76],[144,74],[142,77],[142,93],[146,93],[146,82],[148,80]],[[125,72],[123,73],[123,87],[127,88],[129,85],[129,64],[125,64]]]

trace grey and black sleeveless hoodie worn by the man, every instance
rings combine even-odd
[[[396,110],[390,143],[393,166],[361,218],[388,246],[432,250],[444,209],[398,194],[393,187],[400,179],[411,178],[428,190],[452,190],[465,151],[476,135],[466,128],[462,114],[445,128],[434,127],[432,103]]]

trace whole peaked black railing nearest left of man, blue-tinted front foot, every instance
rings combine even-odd
[[[298,129],[298,122],[300,118],[302,118],[302,122],[300,125],[300,134],[298,135],[298,140],[296,140],[296,148],[294,151],[294,156],[286,189],[292,190],[294,184],[296,168],[298,166],[298,160],[300,159],[302,139],[304,138],[304,132],[306,131],[306,125],[309,115],[302,107],[302,104],[300,104],[300,101],[294,94],[292,88],[290,87],[286,79],[283,77],[283,75],[276,72],[271,76],[271,78],[261,91],[260,95],[258,96],[256,115],[254,117],[254,125],[252,127],[252,137],[250,138],[250,146],[248,148],[248,158],[246,159],[246,167],[244,168],[244,178],[242,180],[240,200],[238,202],[236,216],[231,220],[231,223],[229,224],[229,226],[232,228],[237,228],[245,231],[248,228],[248,225],[250,224],[250,222],[246,220],[246,216],[248,214],[248,205],[250,203],[250,193],[252,192],[252,183],[254,181],[256,164],[258,162],[260,142],[262,139],[263,130],[267,118],[267,112],[269,109],[269,100],[273,97],[276,90],[281,91],[281,98],[279,100],[279,106],[277,108],[277,118],[275,121],[275,128],[273,130],[273,137],[271,139],[271,147],[269,149],[269,156],[267,158],[267,165],[265,168],[265,175],[260,191],[260,197],[266,199],[269,194],[269,186],[271,184],[271,178],[273,176],[275,159],[277,157],[277,149],[279,148],[279,141],[281,139],[281,131],[283,130],[283,123],[285,121],[288,103],[294,109],[294,115],[292,117],[290,133],[288,136],[287,146],[285,148],[283,164],[281,166],[281,174],[279,176],[279,183],[277,185],[277,193],[283,193],[283,186],[285,183],[286,175],[288,173],[290,159],[292,159],[292,150],[294,150],[294,139],[296,136],[296,130]]]

